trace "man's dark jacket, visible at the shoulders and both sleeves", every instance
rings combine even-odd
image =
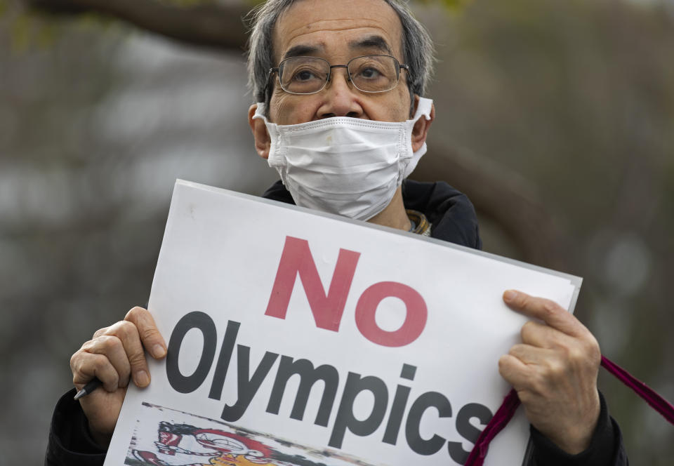
[[[430,236],[462,246],[480,249],[473,204],[468,197],[444,182],[425,183],[405,180],[402,185],[406,208],[423,213],[432,224]],[[263,197],[294,204],[281,182],[267,189]],[[49,432],[46,466],[100,466],[105,450],[95,444],[88,432],[79,402],[73,401],[74,390],[61,397],[56,405]],[[531,427],[531,442],[524,464],[527,466],[626,466],[627,456],[616,422],[609,417],[604,398],[597,429],[588,450],[568,455]]]

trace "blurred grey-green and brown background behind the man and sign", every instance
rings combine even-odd
[[[246,124],[243,27],[117,3],[0,0],[1,465],[41,463],[70,355],[147,301],[175,178],[276,178]],[[150,3],[176,24],[251,5]],[[674,1],[413,5],[439,58],[413,178],[467,192],[487,251],[584,277],[602,352],[674,400]],[[633,464],[671,465],[674,428],[600,386]]]

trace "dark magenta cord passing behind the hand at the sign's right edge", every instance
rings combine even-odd
[[[644,382],[635,378],[634,375],[628,373],[625,369],[615,364],[607,357],[602,356],[602,367],[614,375],[623,384],[630,387],[637,395],[644,399],[655,411],[660,413],[663,418],[674,424],[674,406],[666,399],[661,397],[655,390],[648,387]],[[503,399],[503,403],[491,418],[487,427],[484,427],[480,437],[477,438],[473,451],[468,455],[468,460],[463,466],[482,466],[484,458],[487,458],[487,451],[489,450],[489,443],[498,432],[503,430],[503,427],[508,425],[510,419],[515,415],[517,407],[520,406],[520,399],[517,398],[515,389],[510,392]]]

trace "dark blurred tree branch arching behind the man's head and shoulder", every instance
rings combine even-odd
[[[243,18],[249,4],[196,4],[178,6],[156,0],[23,0],[39,11],[58,15],[98,13],[130,23],[161,36],[220,50],[243,51],[247,34]],[[428,3],[428,0],[418,0]],[[192,2],[193,3],[193,2]],[[463,1],[443,0],[447,8]],[[569,268],[563,257],[563,235],[543,205],[532,194],[531,183],[504,167],[456,147],[434,147],[415,177],[451,180],[468,194],[481,215],[494,220],[508,234],[522,259],[547,267]],[[516,181],[515,181],[516,180]]]

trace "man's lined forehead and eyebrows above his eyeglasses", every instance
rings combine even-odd
[[[277,62],[288,51],[306,48],[308,55],[347,55],[377,48],[402,60],[402,25],[383,0],[297,0],[276,22]],[[343,57],[348,58],[348,57]]]

